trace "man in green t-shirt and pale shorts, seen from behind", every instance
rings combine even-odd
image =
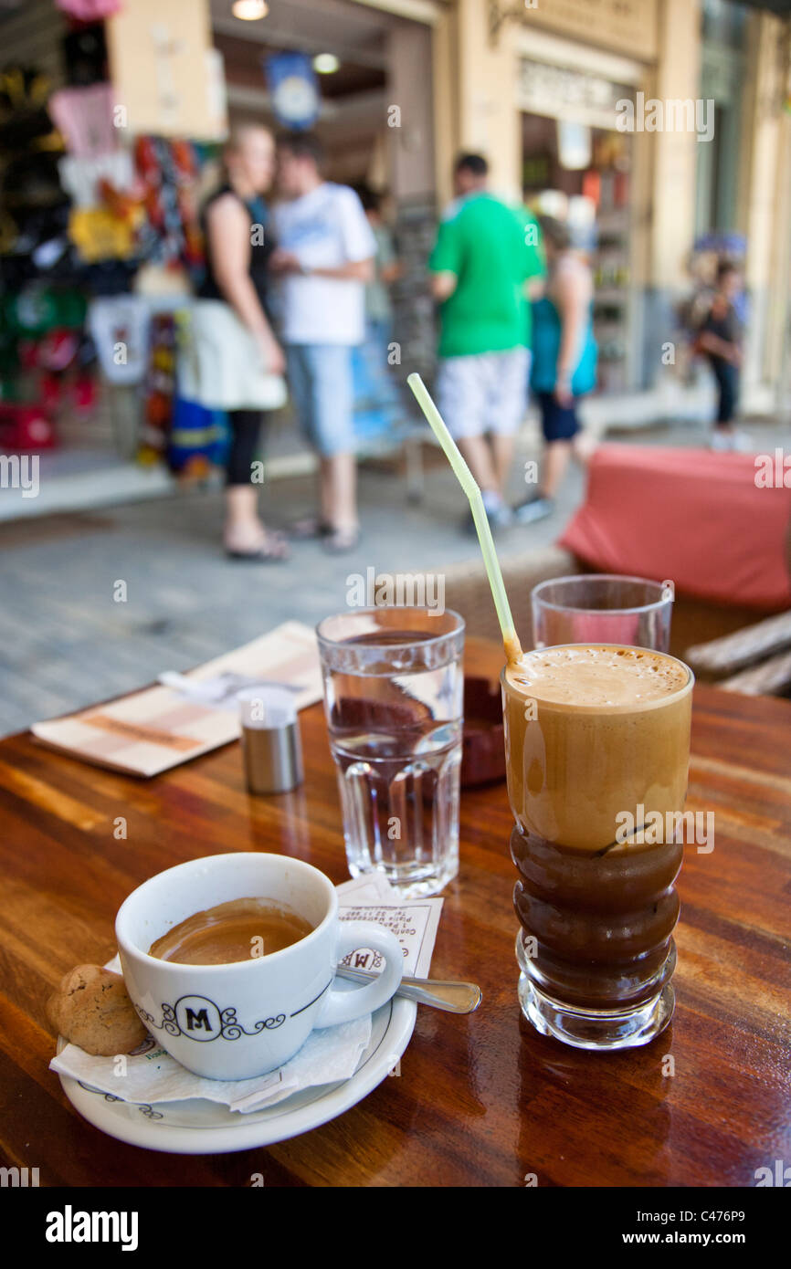
[[[481,155],[461,155],[457,198],[432,256],[432,293],[441,301],[439,411],[484,495],[490,523],[503,528],[503,497],[514,434],[527,407],[531,278],[543,273],[536,221],[486,188]],[[490,443],[489,443],[490,440]]]

